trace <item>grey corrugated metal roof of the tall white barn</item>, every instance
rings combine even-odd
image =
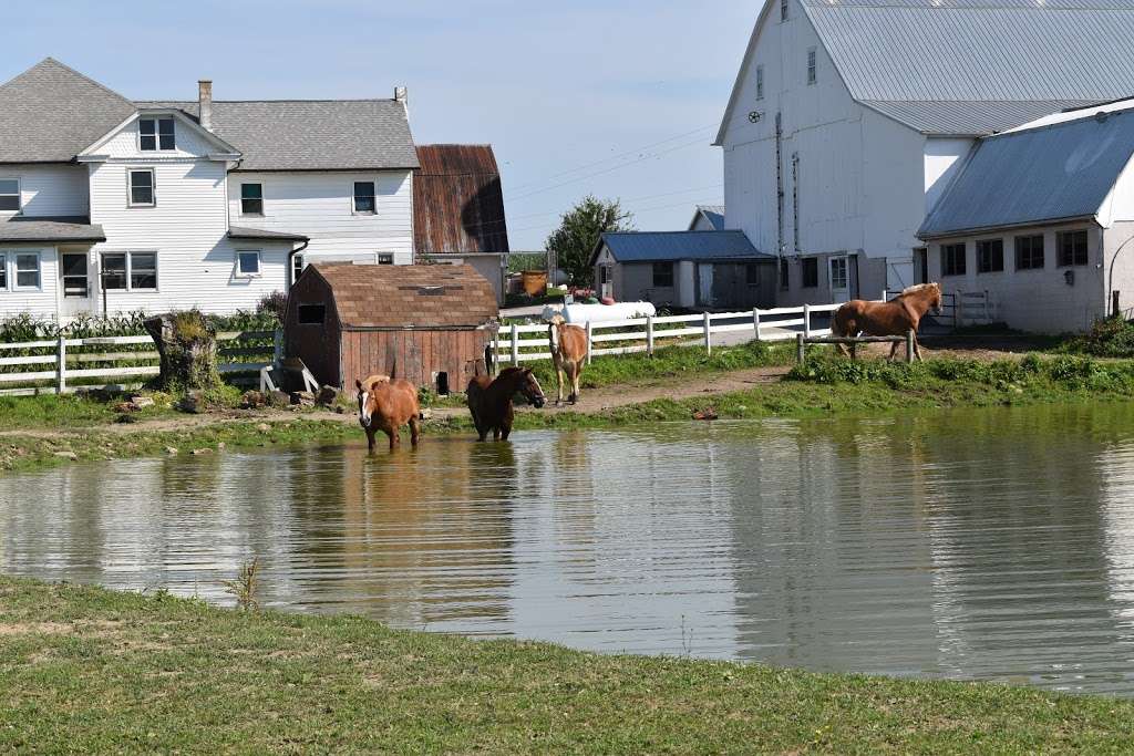
[[[1134,0],[802,0],[850,96],[911,128],[984,136],[1134,94]],[[755,35],[778,11],[767,0]],[[802,54],[802,53],[801,53]],[[717,143],[733,120],[734,87]]]

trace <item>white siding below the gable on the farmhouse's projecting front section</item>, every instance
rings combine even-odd
[[[156,204],[128,207],[128,167],[154,169]],[[112,312],[196,306],[205,312],[252,308],[261,296],[286,288],[289,244],[235,243],[227,236],[225,163],[132,161],[92,167],[91,215],[107,241],[94,252],[158,253],[158,291],[111,291]],[[236,275],[236,250],[261,249],[262,273]],[[98,303],[101,307],[101,299]]]

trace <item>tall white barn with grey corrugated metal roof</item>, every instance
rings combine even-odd
[[[976,141],[1129,96],[1131,39],[1128,0],[768,0],[716,142],[725,228],[779,256],[782,305],[924,281]]]

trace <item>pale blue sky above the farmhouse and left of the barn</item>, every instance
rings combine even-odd
[[[389,97],[418,144],[489,143],[514,250],[587,194],[640,230],[721,202],[711,146],[760,0],[39,0],[3,10],[0,82],[48,56],[135,100]]]

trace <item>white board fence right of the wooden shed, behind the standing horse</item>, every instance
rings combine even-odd
[[[814,328],[812,316],[833,313],[836,305],[773,307],[738,313],[703,313],[701,315],[662,315],[625,321],[585,323],[587,362],[602,355],[652,355],[659,346],[704,347],[710,352],[713,335],[751,333],[755,341],[787,341],[797,332],[805,337],[829,335],[829,328]],[[604,347],[602,345],[612,345]],[[551,359],[548,325],[502,325],[492,345],[497,364],[518,365],[524,362]]]

